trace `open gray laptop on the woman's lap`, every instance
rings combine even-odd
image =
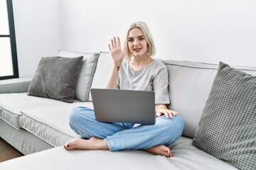
[[[91,89],[95,118],[107,123],[154,125],[154,91]]]

